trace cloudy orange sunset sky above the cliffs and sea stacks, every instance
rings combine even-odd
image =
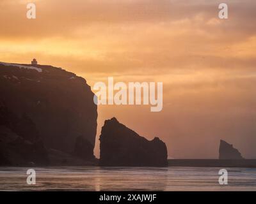
[[[36,19],[26,18],[27,3]],[[0,61],[51,64],[96,82],[163,82],[163,110],[98,107],[169,158],[218,158],[220,139],[256,158],[256,1],[1,0]]]

